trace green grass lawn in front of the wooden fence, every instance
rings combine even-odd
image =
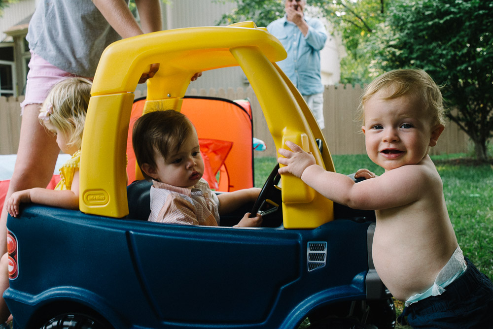
[[[378,175],[383,173],[366,155],[334,155],[332,158],[340,173],[350,174],[359,168]],[[460,248],[480,271],[493,278],[493,165],[475,165],[466,154],[431,158],[442,177],[447,208]],[[254,164],[255,186],[262,187],[276,159],[256,158]],[[396,302],[396,307],[400,314],[402,303]]]

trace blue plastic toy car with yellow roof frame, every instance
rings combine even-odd
[[[150,183],[126,188],[131,92],[151,63],[161,66],[147,102],[176,110],[195,72],[240,65],[276,146],[295,141],[334,170],[317,122],[275,64],[284,57],[253,23],[150,33],[106,49],[82,142],[80,211],[28,204],[8,218],[4,298],[15,328],[394,327],[372,263],[373,212],[334,204],[277,168],[248,209],[264,213],[263,228],[224,227],[245,209],[221,218],[223,227],[147,222]]]

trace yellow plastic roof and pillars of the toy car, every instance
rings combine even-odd
[[[311,151],[317,164],[334,171],[312,112],[275,64],[284,58],[281,42],[253,22],[148,33],[109,45],[96,70],[82,138],[80,210],[115,218],[128,214],[125,151],[132,93],[141,73],[153,63],[159,63],[160,68],[147,81],[147,103],[153,105],[144,111],[179,111],[196,72],[241,66],[276,147],[291,140]],[[325,146],[323,156],[317,150],[316,138]],[[315,228],[333,219],[332,202],[300,179],[283,175],[282,186],[286,187],[282,189],[285,228]]]

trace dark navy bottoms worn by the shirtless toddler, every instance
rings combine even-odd
[[[405,307],[397,321],[413,328],[493,328],[492,281],[465,260],[466,271],[442,295]]]

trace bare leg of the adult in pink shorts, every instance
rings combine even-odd
[[[39,123],[39,107],[40,104],[24,107],[17,159],[5,201],[16,191],[45,188],[53,176],[60,149],[56,137]],[[0,217],[0,255],[7,251],[6,224],[7,210],[4,206]]]

